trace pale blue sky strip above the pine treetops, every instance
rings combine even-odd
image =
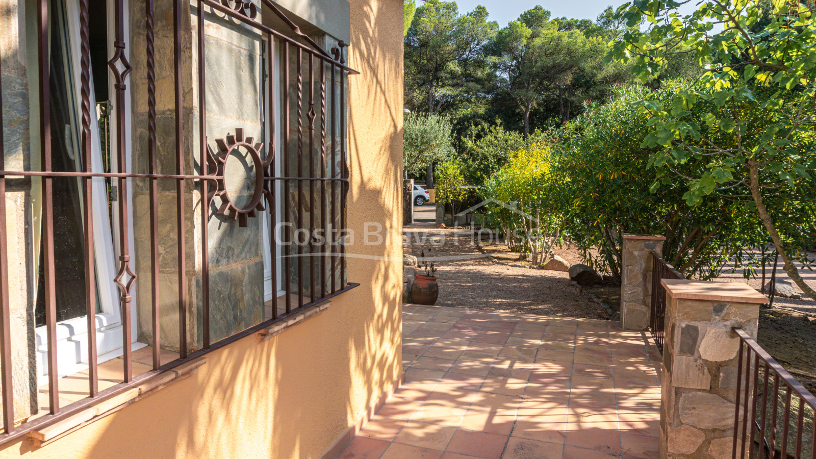
[[[499,22],[499,27],[504,27],[511,20],[516,20],[518,16],[530,8],[541,5],[545,9],[552,11],[552,17],[574,17],[577,19],[595,18],[610,5],[613,8],[625,3],[626,0],[456,0],[459,12],[472,11],[477,5],[483,5],[490,13],[490,20]],[[417,2],[420,3],[421,2]]]

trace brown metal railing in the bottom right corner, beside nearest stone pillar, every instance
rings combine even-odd
[[[816,458],[816,397],[744,330],[739,336],[732,459]]]

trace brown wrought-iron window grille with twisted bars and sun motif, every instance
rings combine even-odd
[[[182,28],[184,20],[182,18],[182,0],[175,0],[173,7],[173,39],[174,39],[174,55],[175,58],[175,174],[162,174],[158,172],[157,164],[157,126],[156,126],[156,77],[155,77],[155,49],[154,49],[154,26],[153,14],[154,3],[153,0],[144,0],[145,8],[145,23],[146,30],[146,78],[147,78],[147,157],[148,169],[147,173],[130,173],[127,172],[126,160],[131,145],[126,143],[126,114],[122,107],[126,107],[126,84],[129,74],[131,73],[131,65],[126,58],[127,41],[124,28],[125,17],[125,2],[124,0],[115,0],[114,3],[114,28],[115,39],[112,43],[113,57],[108,62],[109,69],[115,84],[115,100],[116,107],[113,111],[113,120],[110,121],[110,129],[116,133],[115,139],[110,141],[107,132],[104,133],[104,148],[105,148],[105,172],[93,172],[91,168],[91,123],[96,123],[91,118],[91,58],[89,45],[89,0],[79,0],[79,24],[80,24],[80,65],[81,65],[81,151],[82,151],[82,171],[80,172],[60,172],[52,170],[51,158],[51,124],[49,122],[49,78],[50,78],[50,62],[48,50],[49,37],[49,2],[48,0],[38,0],[37,22],[38,22],[38,91],[39,91],[39,132],[38,136],[41,140],[41,171],[11,171],[5,168],[5,156],[2,141],[0,141],[0,390],[2,390],[2,421],[3,434],[0,434],[0,443],[5,443],[12,439],[20,438],[20,436],[31,432],[32,430],[42,429],[45,426],[50,426],[57,421],[63,420],[77,413],[79,410],[88,408],[95,403],[100,403],[106,399],[111,399],[117,394],[135,387],[136,385],[144,384],[151,378],[158,377],[162,372],[166,372],[171,368],[175,368],[180,364],[200,357],[211,350],[218,349],[224,345],[236,341],[244,336],[249,336],[252,333],[259,331],[262,328],[268,327],[270,323],[277,320],[284,319],[290,314],[296,314],[299,310],[318,302],[326,301],[327,299],[345,292],[357,283],[345,283],[344,285],[335,284],[335,274],[339,270],[339,278],[344,282],[346,267],[346,247],[344,241],[330,241],[330,238],[323,238],[322,246],[316,247],[314,238],[308,241],[308,255],[304,255],[304,247],[298,246],[299,256],[306,256],[309,260],[311,290],[308,298],[304,298],[304,283],[303,279],[303,264],[298,263],[298,283],[299,288],[296,292],[296,303],[292,297],[295,292],[292,291],[290,284],[290,275],[285,275],[285,312],[279,314],[277,311],[276,296],[277,293],[273,288],[273,307],[272,318],[266,319],[264,322],[258,323],[251,328],[246,328],[242,332],[237,332],[231,336],[227,336],[220,341],[211,342],[210,333],[210,299],[209,299],[209,285],[210,285],[210,267],[209,267],[209,244],[207,226],[212,218],[211,212],[200,212],[201,214],[201,253],[202,256],[202,343],[203,348],[199,350],[188,350],[188,330],[186,324],[188,320],[188,297],[187,289],[184,286],[188,282],[188,268],[186,266],[188,247],[185,247],[185,232],[186,232],[186,218],[187,212],[185,198],[185,183],[193,180],[193,183],[201,190],[201,195],[206,197],[206,205],[204,208],[209,208],[213,203],[215,196],[222,198],[222,206],[218,209],[218,215],[228,216],[229,221],[237,221],[238,225],[246,225],[246,218],[255,216],[256,211],[263,210],[263,204],[268,205],[268,210],[273,216],[280,216],[282,221],[293,224],[296,229],[304,229],[313,231],[316,225],[322,225],[324,234],[329,234],[329,223],[332,224],[335,219],[339,217],[339,228],[335,230],[338,234],[343,234],[346,218],[346,194],[348,193],[348,162],[346,158],[346,95],[344,87],[346,78],[350,74],[359,74],[356,70],[348,67],[345,63],[344,50],[347,45],[344,42],[339,42],[337,47],[331,50],[331,54],[324,51],[305,33],[300,32],[297,25],[287,18],[282,11],[269,0],[263,0],[265,11],[270,11],[278,16],[281,20],[289,26],[290,30],[287,33],[282,33],[275,29],[271,29],[266,25],[261,24],[255,20],[258,13],[258,8],[251,2],[243,2],[242,0],[197,0],[198,11],[203,11],[203,7],[211,7],[215,11],[220,11],[226,16],[234,20],[241,21],[243,24],[251,26],[252,29],[268,38],[269,59],[266,60],[267,68],[264,69],[270,76],[267,78],[269,100],[264,102],[268,107],[268,113],[273,113],[277,101],[275,100],[275,91],[273,91],[273,84],[275,78],[271,78],[275,67],[275,59],[273,59],[273,48],[281,47],[282,55],[281,69],[283,74],[283,88],[282,91],[282,106],[283,106],[283,123],[282,135],[283,142],[283,171],[282,176],[276,176],[274,162],[276,158],[276,145],[273,139],[268,141],[266,158],[260,158],[260,149],[262,144],[254,144],[251,138],[245,137],[243,129],[237,128],[234,135],[225,136],[226,140],[217,140],[219,150],[214,152],[206,138],[206,91],[202,88],[206,84],[205,65],[203,57],[198,59],[197,68],[197,83],[199,91],[197,91],[198,107],[199,107],[199,145],[198,163],[202,167],[202,171],[196,174],[194,171],[185,170],[184,163],[184,114],[183,114],[183,81],[182,81]],[[197,52],[198,56],[205,56],[205,40],[204,15],[199,16],[197,24]],[[292,38],[292,36],[295,38]],[[304,44],[305,42],[305,44]],[[295,81],[290,81],[289,56],[295,53],[297,60],[296,78]],[[304,69],[303,63],[307,62]],[[319,91],[316,91],[314,85],[315,67],[319,67],[318,72],[321,78]],[[328,67],[328,69],[327,69]],[[304,72],[308,71],[308,79],[310,89],[308,93],[304,94],[303,78]],[[329,94],[326,94],[326,76],[330,75],[331,87]],[[196,78],[196,77],[194,77]],[[261,83],[264,84],[264,83]],[[336,87],[339,86],[339,95]],[[290,174],[290,158],[289,158],[289,136],[290,136],[290,89],[296,91],[295,104],[298,107],[297,112],[297,176]],[[339,104],[336,105],[339,109],[335,109],[335,103],[339,98]],[[317,99],[317,100],[316,100]],[[335,123],[334,115],[330,117],[330,143],[326,141],[327,127],[326,127],[326,104],[330,101],[332,111],[339,114],[339,121]],[[304,114],[302,110],[304,103],[308,106],[308,110]],[[317,109],[315,106],[317,105]],[[320,118],[319,125],[315,123],[316,118]],[[108,118],[104,118],[105,123],[108,123]],[[0,95],[0,122],[2,122],[2,95]],[[274,117],[270,117],[269,123],[274,123]],[[305,128],[308,130],[308,135],[304,135]],[[338,126],[335,126],[337,124]],[[317,132],[316,132],[317,131]],[[315,136],[319,136],[319,143],[315,143]],[[337,138],[339,137],[339,139]],[[0,139],[2,139],[2,123],[0,123]],[[308,150],[304,153],[304,144],[308,142]],[[259,165],[259,170],[256,169],[258,180],[255,183],[255,194],[251,200],[250,205],[242,208],[235,207],[224,196],[226,193],[224,185],[224,163],[231,149],[235,145],[246,147]],[[330,157],[326,154],[326,147],[331,149]],[[339,151],[338,151],[339,147]],[[315,152],[319,153],[318,158],[314,158]],[[117,158],[117,171],[113,172],[109,167],[110,158]],[[330,158],[331,174],[326,176],[326,161]],[[303,161],[308,161],[308,171],[304,171]],[[314,171],[315,162],[319,161],[321,165],[320,174]],[[336,167],[335,164],[338,164]],[[308,175],[307,175],[308,174]],[[6,217],[6,200],[2,198],[6,194],[7,180],[15,177],[41,177],[42,180],[42,253],[43,253],[43,268],[44,268],[44,296],[46,304],[46,332],[47,332],[47,368],[48,368],[48,406],[49,414],[41,417],[36,417],[15,426],[14,414],[14,390],[12,387],[12,363],[11,363],[11,328],[10,328],[10,292],[8,279],[8,239],[7,239],[7,217]],[[118,307],[122,312],[122,365],[123,378],[122,382],[113,385],[104,390],[100,390],[99,386],[99,372],[96,361],[96,341],[95,333],[88,332],[88,394],[85,399],[80,399],[77,402],[70,403],[64,407],[60,406],[60,378],[57,365],[57,308],[55,297],[55,250],[54,250],[54,216],[52,213],[53,207],[53,192],[52,183],[54,180],[68,180],[70,178],[82,180],[82,206],[84,209],[82,216],[82,231],[84,232],[84,247],[83,253],[85,255],[85,283],[83,289],[85,292],[85,307],[87,317],[87,327],[89,331],[95,330],[95,314],[97,312],[96,306],[96,289],[95,285],[95,263],[94,263],[94,228],[93,215],[94,212],[108,212],[108,209],[95,209],[92,200],[91,180],[95,177],[102,177],[109,182],[112,179],[118,179],[118,187],[115,188],[117,199],[111,203],[116,207],[118,212],[118,234],[114,235],[114,243],[118,244],[118,273],[110,282],[115,283],[118,287]],[[137,283],[136,274],[131,267],[131,247],[129,241],[131,238],[131,230],[128,218],[131,216],[131,211],[128,208],[128,187],[132,180],[148,180],[149,181],[149,228],[150,228],[150,260],[152,261],[152,276],[149,284],[141,287],[143,295],[149,297],[149,304],[152,308],[150,326],[153,337],[149,345],[153,346],[153,369],[149,372],[141,373],[140,375],[133,375],[133,359],[131,357],[131,308],[129,307],[132,296],[131,291]],[[162,361],[160,340],[160,315],[159,315],[159,204],[158,204],[158,182],[159,180],[175,181],[175,207],[176,219],[178,221],[176,237],[178,238],[178,283],[180,285],[178,292],[178,314],[179,314],[179,359],[171,362]],[[275,207],[276,189],[275,183],[281,183],[284,192],[282,193],[284,199],[283,212]],[[297,189],[298,202],[297,217],[295,221],[289,221],[289,191],[290,189]],[[113,192],[113,188],[111,188]],[[339,191],[339,193],[338,193]],[[311,202],[315,202],[315,194],[320,194],[321,209],[320,221],[315,220],[315,213],[310,212],[308,229],[304,226],[303,206],[300,205],[299,200],[304,198],[304,194],[308,192]],[[326,194],[330,193],[328,200],[329,208],[326,208]],[[335,199],[336,197],[336,199]],[[225,199],[224,199],[225,198]],[[233,223],[234,224],[234,223]],[[276,241],[274,238],[274,225],[270,225],[270,251],[271,256],[271,270],[272,279],[277,279],[277,262]],[[320,253],[317,254],[316,250]],[[290,270],[290,247],[285,246],[286,252],[284,254],[284,264],[286,265],[286,273]],[[326,262],[326,256],[330,261]],[[319,257],[321,285],[319,288],[315,287],[315,259]],[[328,271],[328,272],[326,272]],[[326,288],[326,279],[330,279],[330,285]],[[274,285],[274,280],[273,280]],[[293,305],[293,303],[295,303]]]

